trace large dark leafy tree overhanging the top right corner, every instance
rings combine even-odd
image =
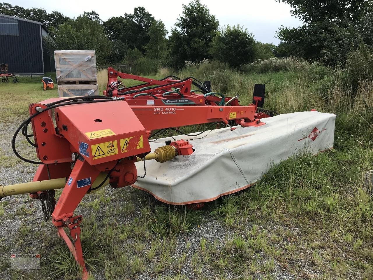
[[[304,21],[298,28],[280,28],[278,56],[323,59],[336,65],[361,43],[372,44],[372,33],[367,32],[372,27],[371,18],[367,20],[372,11],[370,0],[278,1],[288,3],[292,14]]]

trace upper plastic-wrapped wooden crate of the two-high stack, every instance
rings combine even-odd
[[[97,81],[94,50],[55,50],[57,83]]]

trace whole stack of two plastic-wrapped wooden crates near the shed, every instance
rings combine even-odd
[[[56,50],[59,97],[98,95],[94,50]]]

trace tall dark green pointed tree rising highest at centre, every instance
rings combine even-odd
[[[182,16],[171,29],[169,37],[170,66],[182,67],[185,60],[196,62],[211,58],[211,42],[218,27],[219,22],[200,0],[183,5]]]

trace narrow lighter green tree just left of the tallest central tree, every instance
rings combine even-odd
[[[167,52],[167,30],[161,20],[153,21],[149,28],[149,41],[145,46],[146,56],[164,61]]]

